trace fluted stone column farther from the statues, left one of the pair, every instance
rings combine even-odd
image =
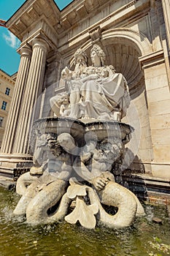
[[[12,145],[15,138],[15,129],[18,125],[18,116],[20,113],[20,105],[23,102],[23,92],[26,88],[28,71],[31,62],[31,48],[28,45],[20,49],[20,66],[18,76],[15,82],[14,94],[9,109],[7,124],[5,127],[4,138],[1,146],[1,153],[12,153]]]

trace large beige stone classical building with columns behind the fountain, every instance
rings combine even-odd
[[[169,183],[169,12],[169,0],[74,0],[62,11],[53,0],[26,1],[6,23],[21,44],[1,174],[14,176],[31,164],[32,122],[53,114],[49,99],[62,91],[61,70],[70,62],[74,69],[77,48],[90,56],[97,43],[106,53],[106,64],[128,81],[131,107],[125,122],[136,128],[128,169]]]

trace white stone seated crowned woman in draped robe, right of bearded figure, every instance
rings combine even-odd
[[[99,45],[93,45],[90,58],[92,65],[85,69],[80,88],[84,118],[120,121],[130,104],[128,84],[114,67],[104,65],[105,54]]]

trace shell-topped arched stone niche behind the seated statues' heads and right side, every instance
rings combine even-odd
[[[144,72],[139,63],[139,57],[152,52],[152,48],[146,38],[134,31],[128,30],[131,37],[122,29],[117,31],[121,33],[116,34],[115,30],[108,31],[108,33],[105,31],[101,41],[97,43],[101,45],[106,54],[105,64],[113,65],[116,72],[121,72],[124,75],[131,95],[131,106],[122,121],[131,124],[135,128],[135,132],[131,142],[127,145],[125,168],[131,169],[133,173],[150,173],[152,140]],[[88,41],[82,45],[82,48],[88,55],[88,64],[90,65],[92,43]]]

